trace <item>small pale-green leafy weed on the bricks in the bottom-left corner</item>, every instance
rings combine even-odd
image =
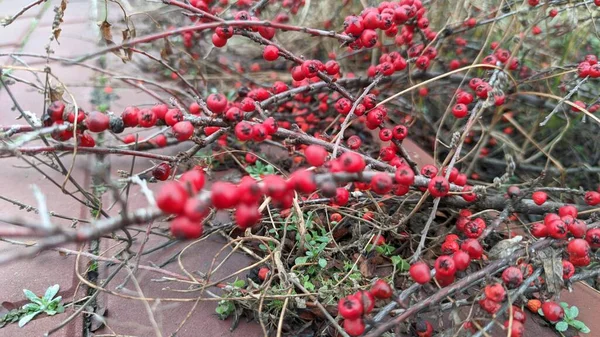
[[[0,317],[0,327],[16,321],[19,321],[19,327],[23,327],[41,313],[46,313],[48,316],[62,313],[65,310],[62,303],[60,303],[62,296],[54,297],[59,289],[60,286],[58,284],[49,287],[42,298],[37,297],[30,290],[23,289],[25,297],[31,302],[25,304],[20,309],[11,310],[6,315]]]

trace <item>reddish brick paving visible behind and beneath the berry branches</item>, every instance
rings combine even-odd
[[[39,54],[44,53],[44,46],[48,41],[48,35],[50,34],[50,27],[54,15],[52,8],[59,2],[59,0],[48,1],[48,5],[37,6],[18,18],[8,27],[0,28],[0,53],[16,51]],[[19,11],[24,4],[28,3],[30,3],[29,0],[0,0],[0,16],[4,17],[12,15]],[[91,16],[91,13],[94,13],[94,10],[90,3],[91,2],[87,0],[71,0],[69,2],[64,17],[65,22],[62,24],[63,32],[60,37],[60,46],[56,44],[53,45],[54,50],[56,51],[54,54],[55,56],[68,57],[81,55],[98,48],[96,44],[98,37],[96,36],[96,30],[93,26],[97,21],[97,18]],[[35,29],[32,29],[34,26]],[[31,67],[41,68],[44,66],[44,62],[39,59],[23,59],[26,60]],[[111,65],[121,66],[120,61],[115,57],[109,57],[109,60]],[[8,57],[0,57],[0,62],[4,65],[14,63],[14,61],[10,60]],[[90,83],[92,83],[90,78],[93,75],[90,70],[80,67],[61,66],[54,63],[52,64],[52,72],[59,76],[59,78],[71,88],[72,93],[77,97],[84,108],[90,108],[89,99],[93,89],[90,87]],[[18,72],[18,76],[29,81],[36,80],[35,76],[22,71]],[[39,114],[43,104],[42,96],[39,93],[32,91],[29,87],[22,84],[16,84],[12,86],[11,89],[25,110],[31,110]],[[121,96],[121,99],[112,105],[112,108],[115,111],[120,111],[128,104],[152,103],[152,101],[148,100],[148,96],[137,90],[119,89],[118,94]],[[0,124],[24,123],[22,120],[15,122],[14,118],[17,116],[17,112],[8,110],[8,107],[12,106],[12,102],[5,90],[0,91],[0,106],[4,108],[3,113],[0,114]],[[423,151],[413,148],[412,145],[409,146],[412,148],[409,148],[412,153],[415,151],[419,152],[418,161],[421,163],[430,162],[432,160]],[[176,149],[171,149],[171,151],[176,153]],[[70,164],[71,158],[64,157],[63,162]],[[76,163],[76,169],[73,175],[80,182],[89,182],[89,160],[79,156]],[[112,170],[115,172],[116,169],[129,170],[131,162],[128,158],[112,158],[111,164]],[[138,169],[147,167],[147,164],[148,161],[137,160]],[[62,182],[63,178],[60,175],[50,175],[57,181]],[[30,188],[31,184],[37,185],[42,191],[47,193],[49,210],[66,215],[78,213],[77,215],[80,218],[89,218],[89,214],[84,207],[81,207],[68,196],[62,194],[60,190],[52,185],[47,179],[44,179],[37,174],[33,169],[24,168],[23,163],[18,160],[2,159],[0,195],[8,196],[19,202],[35,206],[35,198]],[[132,188],[130,200],[137,203],[137,205],[132,204],[131,207],[145,206],[145,199],[136,188]],[[74,207],[77,207],[79,211],[74,212]],[[4,200],[0,200],[0,213],[15,212],[19,212],[18,207]],[[36,215],[33,213],[20,211],[19,214],[22,214],[28,219],[36,219]],[[70,225],[68,221],[61,221],[60,219],[53,220],[64,226]],[[145,227],[142,226],[140,228],[144,229]],[[137,238],[139,239],[138,242],[141,241],[143,234],[137,234]],[[155,247],[163,242],[164,239],[153,238],[147,243],[146,247]],[[160,264],[184,247],[184,245],[185,244],[180,243],[171,246],[168,249],[148,254],[142,259],[142,264]],[[211,239],[201,244],[197,244],[186,251],[186,254],[182,258],[182,264],[187,270],[192,272],[206,271],[215,252],[222,246],[223,242],[217,239]],[[76,249],[76,247],[69,248]],[[134,245],[133,250],[135,251],[136,248],[137,246]],[[0,251],[2,252],[7,250],[17,251],[19,249],[23,248],[0,242]],[[102,249],[114,250],[115,247],[110,247],[108,242],[104,242]],[[107,254],[107,256],[109,256],[109,254]],[[229,275],[231,272],[248,265],[249,262],[250,259],[246,256],[237,255],[234,259],[230,259],[215,277]],[[168,265],[166,269],[177,273],[182,272],[177,263]],[[55,283],[61,285],[60,294],[67,301],[70,301],[78,290],[79,292],[76,297],[80,298],[83,295],[81,283],[75,273],[75,259],[73,257],[60,256],[55,252],[45,252],[32,260],[1,266],[0,271],[0,302],[11,302],[16,306],[21,306],[25,303],[22,295],[23,288],[28,288],[37,294],[43,294],[48,286]],[[100,278],[106,277],[108,272],[110,272],[110,270],[103,270],[100,274]],[[110,288],[114,290],[114,286],[121,283],[125,276],[126,273],[121,271],[111,283],[112,286]],[[137,274],[137,280],[141,285],[144,297],[194,298],[195,292],[173,292],[166,289],[172,287],[183,290],[185,289],[185,286],[174,283],[155,282],[154,280],[159,277],[160,275],[151,274],[145,271],[140,271]],[[581,285],[576,286],[576,288],[576,293],[565,294],[563,300],[568,301],[570,304],[578,305],[581,309],[580,318],[592,329],[592,334],[590,334],[590,336],[599,336],[600,321],[596,319],[595,313],[595,308],[597,308],[596,301],[599,298],[598,292]],[[121,293],[128,296],[139,296],[131,282],[128,283],[127,287]],[[98,333],[106,335],[114,333],[117,335],[129,336],[155,335],[145,306],[141,301],[119,298],[112,295],[101,295],[99,296],[99,301],[107,309],[105,317],[107,328],[98,331]],[[154,319],[160,327],[163,336],[168,336],[175,331],[181,320],[192,307],[193,302],[149,300],[148,304],[153,308]],[[216,319],[214,315],[215,305],[216,303],[214,301],[200,303],[187,324],[181,329],[178,336],[252,337],[262,335],[262,330],[257,324],[247,324],[243,319],[238,329],[229,332],[231,321],[219,321]],[[67,310],[67,314],[70,312],[72,312],[72,309]],[[40,316],[39,319],[33,320],[22,329],[19,329],[16,324],[11,324],[0,329],[0,337],[42,336],[44,332],[55,327],[65,318],[66,314],[54,317]],[[531,322],[533,322],[533,320],[529,319],[526,336],[552,335],[552,332],[544,330],[537,324]],[[81,336],[82,326],[83,322],[79,317],[54,336]]]

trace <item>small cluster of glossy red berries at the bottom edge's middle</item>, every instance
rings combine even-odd
[[[350,336],[362,335],[365,332],[363,316],[373,311],[377,299],[385,300],[392,295],[392,287],[383,280],[377,280],[369,291],[360,290],[340,299],[338,313],[344,318],[343,327],[346,333]]]

